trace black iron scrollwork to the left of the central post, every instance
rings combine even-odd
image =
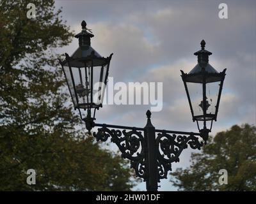
[[[122,157],[131,161],[131,168],[134,168],[138,177],[145,180],[145,140],[141,131],[137,131],[135,128],[127,131],[124,129],[109,129],[106,126],[98,128],[97,133],[93,133],[93,136],[97,141],[101,140],[105,142],[111,137],[111,142],[116,143]]]

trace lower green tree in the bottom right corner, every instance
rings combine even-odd
[[[210,137],[192,164],[171,173],[173,186],[184,191],[256,191],[256,127],[244,124]],[[220,185],[221,169],[228,184]]]

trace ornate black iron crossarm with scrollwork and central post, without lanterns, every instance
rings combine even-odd
[[[110,137],[111,142],[120,149],[122,157],[131,161],[136,176],[147,182],[147,190],[157,191],[157,182],[167,178],[168,171],[172,171],[172,163],[179,162],[182,150],[187,149],[188,145],[200,150],[204,142],[199,139],[203,138],[206,143],[209,131],[193,133],[155,129],[150,116],[148,110],[145,128],[94,124],[100,128],[97,133],[93,132],[93,136],[102,142]]]

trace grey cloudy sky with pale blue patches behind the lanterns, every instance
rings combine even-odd
[[[228,6],[228,19],[219,18],[220,3]],[[152,113],[157,129],[197,131],[191,120],[180,69],[189,72],[197,63],[200,41],[212,52],[210,64],[227,68],[218,121],[212,134],[234,124],[255,124],[256,1],[56,1],[63,20],[75,33],[81,21],[95,35],[92,47],[102,56],[114,53],[109,77],[115,82],[163,82],[163,110]],[[72,54],[74,41],[61,51]],[[150,105],[104,105],[97,122],[144,127]],[[189,165],[191,150],[184,150],[173,169]],[[173,191],[168,180],[161,191]],[[135,189],[145,190],[145,184]]]

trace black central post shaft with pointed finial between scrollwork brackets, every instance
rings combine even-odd
[[[157,147],[156,129],[150,121],[150,112],[147,112],[147,125],[144,128],[145,135],[145,166],[147,191],[157,191]]]

